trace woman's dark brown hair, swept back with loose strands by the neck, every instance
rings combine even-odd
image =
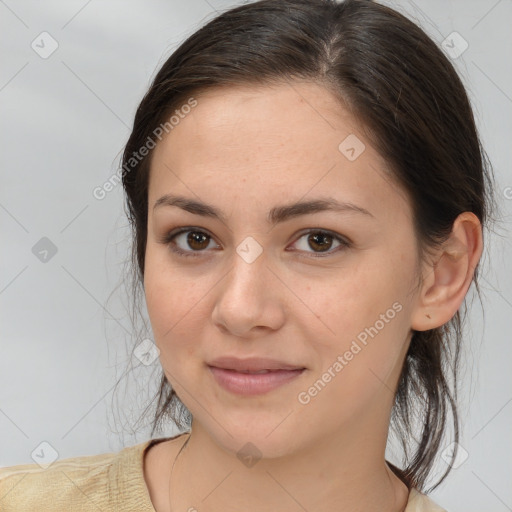
[[[122,155],[135,294],[144,279],[152,151],[135,164],[133,155],[193,95],[294,80],[325,86],[361,121],[411,200],[419,259],[447,240],[463,212],[473,212],[486,227],[493,204],[492,168],[462,81],[426,33],[402,14],[369,0],[261,0],[223,12],[190,35],[161,66],[137,108]],[[478,271],[479,263],[473,282],[480,297]],[[391,467],[408,488],[424,491],[444,447],[450,411],[454,441],[459,441],[457,375],[466,299],[463,305],[462,318],[457,311],[441,327],[413,331],[404,360],[391,426],[406,467]],[[163,371],[154,400],[151,435],[167,418],[180,428],[190,426],[191,415]],[[417,441],[412,455],[411,438]],[[427,492],[450,469],[448,464]]]

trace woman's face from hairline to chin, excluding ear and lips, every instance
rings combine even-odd
[[[144,287],[169,382],[195,424],[233,450],[251,440],[278,456],[387,429],[417,279],[405,194],[319,85],[195,98],[150,170]],[[310,201],[356,208],[288,208]],[[208,366],[223,356],[304,370],[241,394]]]

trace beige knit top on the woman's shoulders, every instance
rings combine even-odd
[[[177,436],[174,436],[177,437]],[[172,437],[151,439],[117,453],[0,468],[2,512],[155,512],[143,472],[144,452]],[[405,512],[447,512],[411,489]]]

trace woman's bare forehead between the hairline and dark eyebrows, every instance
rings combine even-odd
[[[150,207],[161,194],[177,191],[214,203],[221,188],[233,200],[253,198],[260,205],[328,193],[374,210],[380,205],[383,213],[399,206],[402,193],[386,163],[326,88],[308,82],[238,86],[194,98],[197,105],[154,149]],[[360,153],[355,159],[346,153],[350,146]]]

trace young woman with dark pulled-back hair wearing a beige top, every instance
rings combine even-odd
[[[262,0],[210,21],[156,75],[122,162],[154,427],[187,431],[5,468],[2,510],[443,510],[425,489],[457,454],[445,372],[485,162],[452,64],[397,12]],[[419,440],[402,469],[390,425]]]

